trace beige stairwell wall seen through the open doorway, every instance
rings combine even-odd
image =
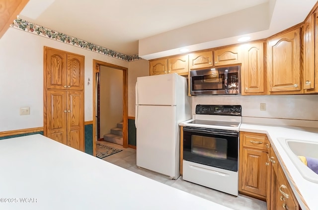
[[[100,137],[123,121],[123,71],[100,66]]]

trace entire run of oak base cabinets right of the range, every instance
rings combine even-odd
[[[299,210],[267,135],[241,131],[239,138],[239,192],[266,201],[267,210]]]

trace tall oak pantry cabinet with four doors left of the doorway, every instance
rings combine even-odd
[[[44,47],[44,135],[84,151],[84,56]]]

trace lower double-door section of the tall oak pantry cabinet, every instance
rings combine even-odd
[[[84,94],[82,91],[47,91],[46,136],[84,151]]]

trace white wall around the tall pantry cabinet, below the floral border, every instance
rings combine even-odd
[[[0,131],[43,126],[44,46],[85,56],[85,121],[93,119],[92,60],[129,66],[129,62],[121,59],[9,28],[0,39]],[[30,115],[19,115],[20,107],[24,106],[30,107]]]

